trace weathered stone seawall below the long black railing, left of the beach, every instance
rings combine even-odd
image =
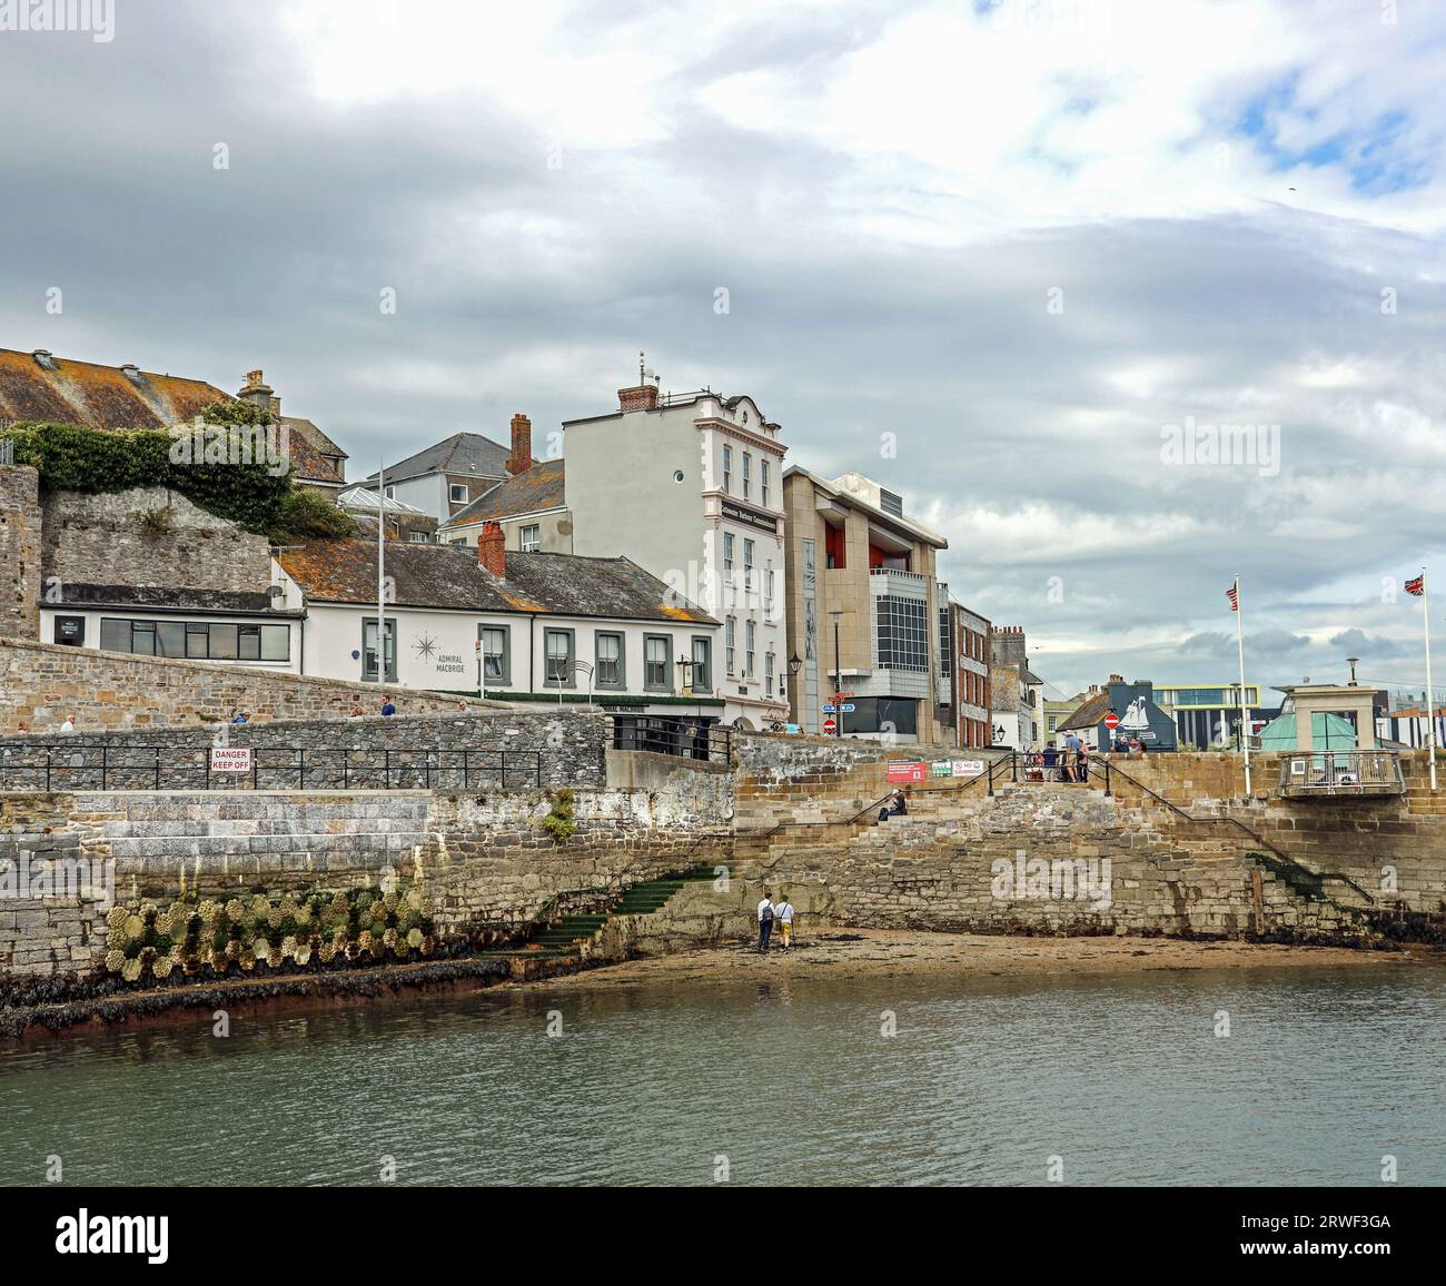
[[[554,838],[545,823],[561,806],[576,829]],[[732,809],[727,774],[688,771],[656,790],[3,794],[0,979],[98,976],[117,907],[121,921],[174,913],[181,968],[179,934],[205,901],[268,900],[270,927],[296,937],[282,926],[299,904],[380,898],[389,881],[395,895],[416,891],[428,943],[487,945],[560,894],[722,859]]]

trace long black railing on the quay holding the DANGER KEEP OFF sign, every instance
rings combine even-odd
[[[211,746],[12,742],[0,746],[0,790],[508,790],[544,780],[534,749],[249,749],[241,771],[221,771]]]

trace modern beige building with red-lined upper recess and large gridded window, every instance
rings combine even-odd
[[[843,736],[954,744],[953,690],[943,655],[947,589],[936,554],[947,541],[904,516],[902,501],[857,473],[829,480],[784,472],[788,512],[788,655],[794,719],[823,732],[823,707]],[[943,613],[943,615],[941,615]]]

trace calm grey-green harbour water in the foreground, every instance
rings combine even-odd
[[[562,1034],[545,1034],[560,1010]],[[879,1034],[881,1013],[898,1034]],[[1232,1034],[1212,1034],[1228,1010]],[[0,1047],[0,1182],[1446,1183],[1446,969],[672,984]]]

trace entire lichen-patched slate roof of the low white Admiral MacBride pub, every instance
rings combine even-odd
[[[376,602],[375,541],[309,541],[281,550],[276,560],[311,602]],[[399,608],[717,625],[628,558],[508,551],[506,564],[506,580],[500,580],[477,563],[473,548],[388,541],[386,576],[395,586],[390,602]]]

